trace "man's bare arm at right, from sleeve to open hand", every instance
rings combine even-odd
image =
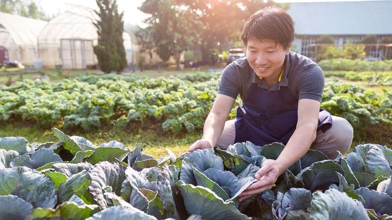
[[[300,99],[298,102],[298,122],[296,131],[276,160],[266,160],[255,174],[259,181],[250,185],[239,195],[239,201],[264,190],[271,189],[278,176],[297,162],[309,150],[316,139],[320,112],[320,101]]]

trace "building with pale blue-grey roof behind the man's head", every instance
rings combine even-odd
[[[297,39],[293,50],[315,58],[312,44],[322,35],[331,36],[336,45],[353,44],[366,35],[392,36],[392,1],[303,2],[290,3]],[[392,42],[389,42],[392,43]],[[382,57],[384,46],[376,46],[371,57]]]

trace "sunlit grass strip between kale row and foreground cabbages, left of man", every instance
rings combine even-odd
[[[58,128],[68,136],[83,137],[92,142],[95,146],[100,146],[103,143],[116,140],[124,144],[130,150],[133,150],[135,144],[145,143],[145,153],[156,159],[168,156],[165,148],[170,149],[176,156],[179,156],[185,153],[192,143],[202,137],[201,131],[190,134],[173,134],[171,132],[163,131],[161,127],[157,127],[156,125],[141,125],[139,122],[130,124],[125,128],[104,125],[89,133],[84,133],[82,130],[77,129],[62,130],[60,124],[53,127]],[[30,144],[34,142],[37,144],[59,142],[53,135],[50,126],[40,126],[19,119],[8,121],[7,124],[0,124],[0,137],[25,138]]]

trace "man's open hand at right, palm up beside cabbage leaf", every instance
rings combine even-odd
[[[258,179],[258,181],[245,189],[245,191],[238,196],[238,201],[245,200],[252,195],[271,189],[279,175],[279,166],[275,160],[268,159],[264,161],[261,168],[255,174],[255,178]]]

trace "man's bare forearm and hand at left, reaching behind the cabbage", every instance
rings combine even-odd
[[[230,96],[223,94],[217,95],[211,112],[204,123],[203,138],[193,143],[188,149],[188,152],[196,149],[214,148],[218,139],[221,137],[225,122],[234,106],[234,102],[235,99]]]

